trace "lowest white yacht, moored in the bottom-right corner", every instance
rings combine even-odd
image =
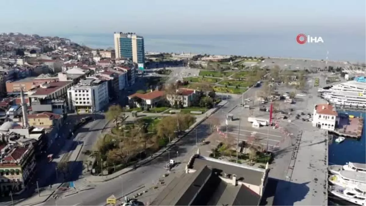
[[[341,199],[352,202],[356,205],[366,205],[366,187],[358,185],[355,188],[332,185],[329,192]]]

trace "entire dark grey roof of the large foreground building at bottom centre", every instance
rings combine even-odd
[[[195,172],[173,179],[150,206],[257,206],[261,201],[261,196],[245,185],[232,185],[220,175],[236,174],[238,180],[242,179],[239,181],[260,185],[263,169],[206,157],[194,158],[191,168]]]

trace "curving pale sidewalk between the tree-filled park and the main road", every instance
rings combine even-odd
[[[152,161],[153,159],[159,157],[161,154],[163,154],[165,151],[167,151],[170,147],[174,146],[176,142],[178,142],[180,139],[182,139],[182,137],[188,135],[188,133],[190,133],[191,130],[193,130],[196,126],[198,126],[203,121],[205,121],[206,118],[208,118],[210,115],[215,113],[219,108],[224,106],[226,103],[227,103],[226,100],[221,101],[219,104],[217,104],[217,106],[215,108],[212,108],[212,109],[208,110],[205,114],[196,115],[196,118],[197,118],[196,122],[193,125],[191,125],[189,129],[187,129],[185,131],[184,135],[180,136],[178,139],[172,140],[166,147],[161,148],[159,151],[157,151],[155,154],[153,154],[152,157],[147,157],[146,159],[143,159],[142,161],[138,162],[135,166],[130,166],[128,168],[124,168],[124,169],[122,169],[118,172],[115,172],[113,174],[109,174],[109,175],[105,175],[105,176],[89,175],[89,176],[86,176],[85,179],[90,181],[90,182],[94,182],[94,183],[109,181],[109,180],[115,179],[116,177],[119,177],[123,174],[126,174],[126,173],[130,172],[131,170],[134,170],[135,168],[138,168],[138,167]],[[152,115],[156,116],[157,114],[152,114]],[[168,114],[168,115],[170,115],[170,114]]]

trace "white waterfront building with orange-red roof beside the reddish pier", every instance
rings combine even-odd
[[[334,130],[338,122],[338,113],[332,105],[329,103],[315,105],[312,121],[313,126],[320,129]]]

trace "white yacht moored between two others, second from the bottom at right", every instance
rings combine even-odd
[[[355,188],[359,184],[366,187],[366,174],[361,172],[341,170],[339,174],[330,175],[328,180],[330,183],[341,187]]]

